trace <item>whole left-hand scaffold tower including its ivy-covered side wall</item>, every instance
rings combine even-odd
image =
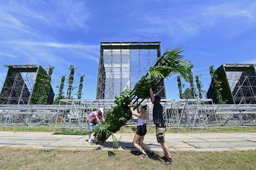
[[[4,65],[8,72],[0,93],[1,105],[52,104],[50,77],[40,65]]]

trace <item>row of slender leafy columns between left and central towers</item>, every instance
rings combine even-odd
[[[58,105],[60,102],[60,99],[73,99],[74,97],[72,95],[76,95],[77,99],[81,99],[83,93],[82,93],[82,89],[83,89],[83,82],[84,82],[84,76],[85,75],[78,75],[80,76],[80,81],[79,81],[79,86],[78,86],[78,92],[74,93],[74,89],[76,89],[76,86],[74,85],[74,75],[75,75],[75,71],[78,67],[75,67],[74,65],[70,65],[70,67],[68,68],[70,70],[70,73],[68,75],[68,89],[67,89],[67,95],[64,95],[64,86],[65,86],[65,80],[66,80],[66,75],[62,75],[61,76],[61,80],[60,80],[60,85],[56,86],[56,88],[58,88],[58,94],[56,95],[53,104]],[[51,81],[51,77],[52,77],[52,73],[54,70],[54,67],[49,65],[48,66],[48,75],[50,76],[50,81]],[[62,103],[62,104],[66,104],[66,103]]]

